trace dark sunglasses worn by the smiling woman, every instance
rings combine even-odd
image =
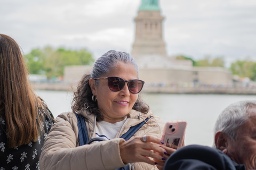
[[[124,80],[119,77],[107,77],[107,78],[94,78],[93,80],[99,80],[99,79],[108,79],[108,87],[112,91],[120,91],[124,88],[125,82],[127,82],[127,86],[129,91],[132,94],[138,94],[144,85],[144,81],[134,79],[134,80]]]

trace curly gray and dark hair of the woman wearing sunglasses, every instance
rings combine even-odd
[[[87,110],[90,113],[97,115],[97,121],[103,120],[97,102],[92,101],[92,91],[89,86],[89,80],[91,78],[100,78],[102,75],[107,74],[113,67],[117,66],[118,62],[133,64],[138,76],[138,66],[129,53],[109,50],[95,61],[91,73],[85,73],[82,80],[78,83],[77,91],[74,92],[74,99],[71,106],[73,112],[77,113],[83,108],[86,108],[86,106],[89,106]],[[98,86],[98,84],[98,80],[95,80],[95,86]],[[139,94],[132,109],[146,114],[149,111],[149,106],[141,99]]]

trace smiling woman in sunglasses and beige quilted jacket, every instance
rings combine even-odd
[[[143,84],[130,54],[98,58],[74,92],[73,112],[56,118],[41,170],[161,168],[174,149],[159,147],[164,122],[141,100]]]

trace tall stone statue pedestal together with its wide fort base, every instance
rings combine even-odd
[[[232,83],[230,71],[221,67],[193,67],[190,60],[176,60],[166,55],[162,22],[164,17],[158,0],[142,0],[136,24],[135,40],[131,55],[139,66],[139,76],[146,82],[145,88],[152,86],[205,86]],[[74,82],[81,79],[91,66],[68,66],[64,80]],[[187,85],[189,84],[189,85]]]

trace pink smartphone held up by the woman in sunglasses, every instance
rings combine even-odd
[[[186,126],[187,122],[183,120],[166,122],[162,135],[164,145],[174,149],[180,148],[185,137]]]

